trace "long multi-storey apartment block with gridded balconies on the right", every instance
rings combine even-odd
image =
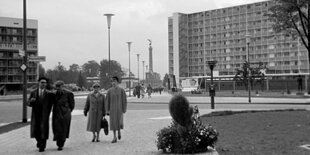
[[[273,1],[263,1],[168,18],[169,74],[210,75],[207,61],[217,60],[219,76],[234,75],[247,58],[246,34],[251,35],[251,63],[264,62],[267,74],[309,73],[308,53],[297,39],[274,36],[265,13]],[[254,64],[253,64],[254,65]]]

